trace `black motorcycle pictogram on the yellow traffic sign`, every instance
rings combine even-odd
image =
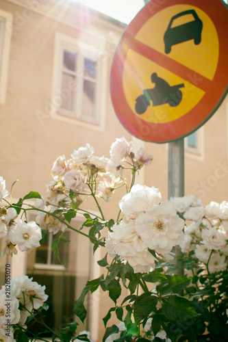
[[[143,90],[143,95],[136,98],[136,113],[143,114],[147,107],[151,104],[152,106],[164,105],[168,103],[171,107],[179,105],[182,99],[182,93],[179,88],[183,88],[183,83],[177,84],[176,86],[170,86],[161,77],[157,76],[157,73],[151,75],[151,81],[155,83],[155,88]]]

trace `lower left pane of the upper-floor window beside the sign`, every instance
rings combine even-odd
[[[76,88],[76,77],[62,73],[61,108],[73,111],[74,94]]]

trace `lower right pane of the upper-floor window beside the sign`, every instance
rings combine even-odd
[[[83,87],[83,116],[95,117],[96,84],[84,80]]]

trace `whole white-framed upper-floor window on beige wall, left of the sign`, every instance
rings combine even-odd
[[[101,42],[96,44],[96,39],[94,46],[56,35],[51,105],[55,118],[101,126],[105,112],[107,55]]]

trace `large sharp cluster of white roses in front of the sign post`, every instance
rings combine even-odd
[[[119,202],[124,217],[112,226],[105,246],[111,257],[117,254],[134,272],[148,273],[155,268],[157,259],[149,249],[170,260],[173,246],[183,241],[184,221],[172,203],[161,200],[159,189],[134,185]]]

